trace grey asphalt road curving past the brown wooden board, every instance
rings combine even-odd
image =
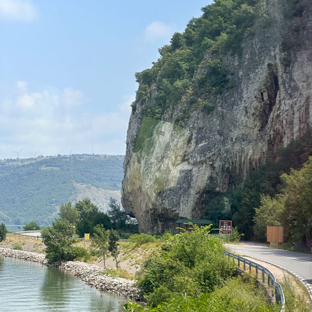
[[[254,243],[226,245],[226,249],[230,252],[258,258],[287,268],[301,276],[301,278],[312,287],[312,255],[258,246]]]

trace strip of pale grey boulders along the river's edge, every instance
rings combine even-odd
[[[46,256],[43,254],[0,248],[0,255],[49,265]],[[57,267],[75,274],[91,287],[127,296],[134,300],[140,300],[139,289],[134,287],[135,280],[101,274],[100,272],[103,271],[103,268],[95,264],[80,261],[67,261],[57,265]]]

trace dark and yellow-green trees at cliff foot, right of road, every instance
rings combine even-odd
[[[312,239],[312,130],[277,152],[276,159],[252,171],[224,195],[210,194],[206,218],[215,226],[232,219],[247,239],[266,240],[266,225],[284,226],[290,246],[308,247]],[[286,198],[287,197],[287,198]]]

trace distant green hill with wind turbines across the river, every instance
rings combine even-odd
[[[124,156],[71,155],[0,160],[0,222],[49,224],[62,203],[89,197],[100,209],[120,199]]]

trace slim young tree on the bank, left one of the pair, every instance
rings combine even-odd
[[[102,224],[98,224],[93,228],[93,237],[91,240],[91,253],[97,257],[103,257],[104,268],[105,260],[108,253],[109,230],[105,230]]]

